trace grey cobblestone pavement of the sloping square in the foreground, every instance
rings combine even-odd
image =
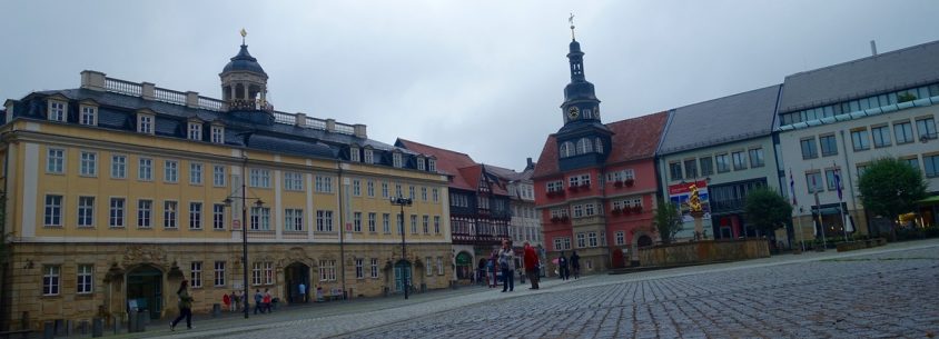
[[[923,338],[939,241],[348,303],[180,338]],[[433,293],[427,293],[433,295]],[[384,302],[384,303],[383,303]],[[257,317],[256,317],[257,318]],[[219,326],[221,325],[221,326]],[[164,335],[169,335],[166,332]]]

